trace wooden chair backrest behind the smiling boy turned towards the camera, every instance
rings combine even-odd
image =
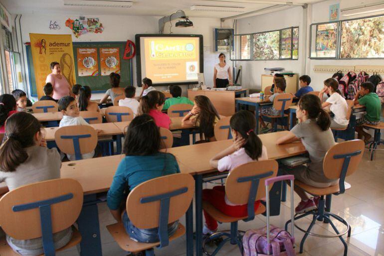
[[[80,160],[82,154],[90,153],[96,148],[97,132],[91,126],[61,127],[55,132],[55,141],[62,152],[74,154],[76,160]]]

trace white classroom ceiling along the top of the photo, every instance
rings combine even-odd
[[[76,0],[74,0],[76,1]],[[124,0],[119,0],[124,1]],[[127,0],[128,1],[128,0]],[[131,0],[130,8],[66,6],[63,0],[0,0],[11,14],[84,14],[165,16],[182,9],[190,17],[223,18],[246,13],[286,1],[313,3],[321,0]],[[238,7],[243,12],[191,10],[192,5]]]

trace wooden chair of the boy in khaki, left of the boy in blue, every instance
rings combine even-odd
[[[292,105],[293,96],[288,93],[279,94],[273,99],[273,108],[276,110],[280,110],[281,114],[280,116],[271,116],[271,115],[262,115],[263,117],[266,117],[272,122],[273,128],[271,128],[272,131],[277,131],[277,122],[281,122],[281,126],[285,125],[288,126],[288,115],[284,114],[284,111],[288,110],[289,107]],[[267,120],[268,121],[268,120]]]

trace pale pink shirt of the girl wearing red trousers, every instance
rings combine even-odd
[[[263,145],[263,149],[261,152],[261,156],[258,160],[267,160],[267,148]],[[231,171],[237,166],[240,166],[244,163],[253,162],[254,160],[247,155],[245,152],[245,148],[240,148],[239,150],[233,152],[230,155],[224,156],[217,162],[217,170],[218,171]],[[228,198],[225,196],[225,203],[227,205],[235,206],[235,204],[232,204]]]

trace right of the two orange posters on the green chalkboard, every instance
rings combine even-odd
[[[119,48],[100,48],[101,75],[108,76],[112,72],[120,74]]]

